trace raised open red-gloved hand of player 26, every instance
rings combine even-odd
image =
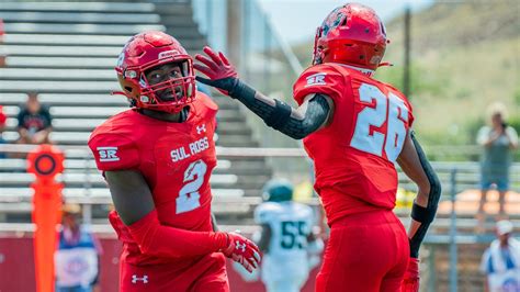
[[[217,54],[208,46],[203,52],[207,56],[196,54],[195,59],[201,64],[194,64],[193,67],[210,79],[197,76],[196,80],[229,96],[238,82],[237,70],[222,52]]]

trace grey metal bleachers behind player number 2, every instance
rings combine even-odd
[[[124,97],[110,94],[118,90],[114,71],[117,54],[129,36],[146,30],[167,31],[191,54],[201,50],[206,42],[192,13],[190,1],[0,5],[5,30],[0,55],[7,56],[7,67],[0,68],[0,104],[8,115],[3,137],[16,141],[20,104],[26,92],[38,92],[54,117],[50,139],[66,149],[66,170],[60,178],[66,186],[64,195],[93,204],[94,220],[105,221],[111,200],[86,143],[97,125],[128,106]],[[218,146],[258,146],[238,103],[219,96],[215,101],[221,108]],[[0,221],[30,220],[33,177],[25,173],[25,167],[23,159],[0,160],[0,202],[16,203],[1,204]],[[250,214],[271,172],[262,157],[221,158],[211,181],[217,215]],[[244,199],[237,201],[239,198]]]

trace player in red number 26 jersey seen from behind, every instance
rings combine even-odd
[[[376,13],[335,9],[318,27],[313,66],[294,85],[297,109],[239,80],[222,53],[204,48],[197,80],[239,100],[304,146],[330,226],[316,291],[418,291],[419,246],[433,221],[440,182],[410,127],[411,105],[372,78],[387,44]],[[408,236],[394,215],[397,162],[417,183]]]

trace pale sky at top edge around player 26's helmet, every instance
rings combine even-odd
[[[332,9],[344,4],[347,0],[258,0],[271,18],[278,33],[290,44],[314,38],[316,27]],[[375,10],[383,21],[403,12],[406,5],[420,10],[433,3],[433,0],[358,0]]]

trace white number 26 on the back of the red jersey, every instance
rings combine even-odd
[[[375,86],[362,83],[359,89],[360,100],[375,105],[364,108],[355,121],[355,130],[350,146],[359,150],[383,156],[383,150],[389,161],[394,162],[405,143],[408,108],[402,99],[389,92],[385,96]],[[386,122],[386,133],[373,131]]]

